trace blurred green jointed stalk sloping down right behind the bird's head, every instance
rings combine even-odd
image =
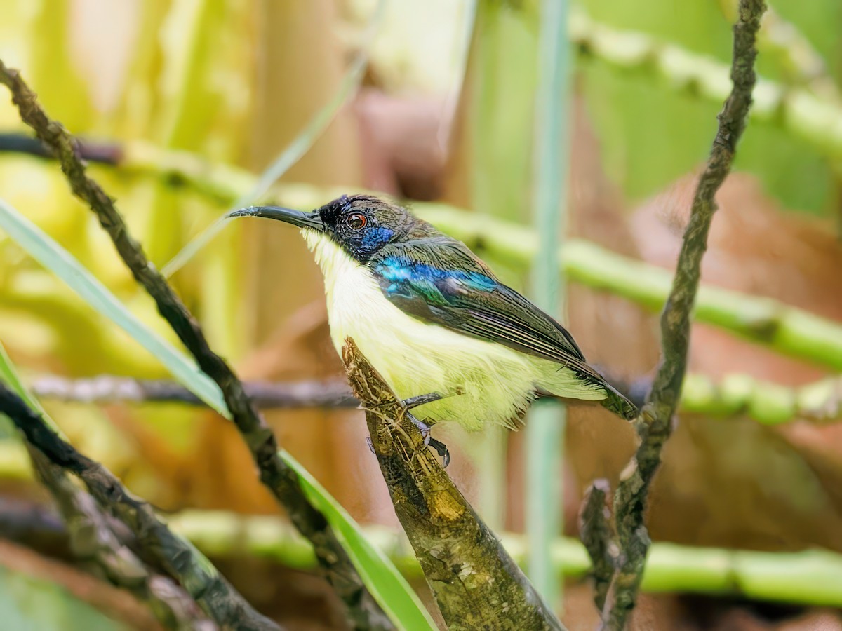
[[[842,112],[839,119],[842,120]],[[35,146],[23,147],[17,138],[13,140],[19,150],[39,153]],[[189,185],[225,204],[248,191],[256,181],[248,171],[206,162],[186,151],[163,151],[137,142],[125,146],[93,145],[91,148],[108,156],[109,166],[145,177],[165,178],[174,185]],[[115,156],[120,159],[111,165]],[[286,206],[317,208],[325,199],[343,193],[347,191],[284,184],[273,189],[272,199]],[[516,268],[527,268],[535,258],[537,236],[522,225],[446,204],[418,202],[413,204],[413,210],[450,236],[465,241],[468,247],[492,254]],[[671,275],[668,270],[611,252],[584,239],[566,242],[564,252],[559,253],[559,268],[575,283],[619,295],[651,310],[660,309],[669,294]],[[780,300],[701,284],[693,318],[778,353],[842,370],[842,324]]]

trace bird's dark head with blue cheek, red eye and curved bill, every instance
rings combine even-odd
[[[278,206],[251,206],[229,217],[267,217],[324,232],[350,257],[366,262],[387,243],[407,241],[433,231],[407,209],[371,195],[343,195],[310,213]]]

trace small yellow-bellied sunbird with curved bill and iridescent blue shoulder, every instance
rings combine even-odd
[[[540,397],[599,401],[626,420],[637,416],[563,326],[463,242],[400,205],[358,194],[311,212],[251,206],[227,216],[301,230],[322,270],[339,356],[352,338],[397,397],[420,401],[413,416],[428,437],[437,422],[516,429]]]

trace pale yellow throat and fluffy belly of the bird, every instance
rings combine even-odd
[[[413,414],[420,420],[454,421],[469,430],[486,423],[513,427],[536,389],[577,399],[605,399],[605,390],[575,379],[558,363],[405,314],[386,299],[366,268],[332,242],[311,247],[325,273],[337,352],[341,355],[346,337],[353,338],[401,399],[432,392],[445,395],[416,408]]]

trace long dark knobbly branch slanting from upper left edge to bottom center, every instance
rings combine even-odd
[[[322,572],[344,601],[349,618],[360,628],[392,628],[339,544],[327,519],[307,500],[295,471],[280,458],[278,444],[263,417],[248,400],[242,383],[224,359],[214,353],[198,322],[175,294],[161,273],[147,260],[141,245],[131,238],[114,201],[85,171],[75,139],[59,123],[47,117],[35,96],[20,77],[0,61],[0,82],[12,93],[21,119],[40,141],[51,148],[73,194],[86,202],[100,225],[111,237],[117,252],[131,269],[136,281],[152,296],[157,309],[168,321],[205,374],[219,386],[232,420],[252,452],[260,480],[285,506],[290,520],[313,544]]]

